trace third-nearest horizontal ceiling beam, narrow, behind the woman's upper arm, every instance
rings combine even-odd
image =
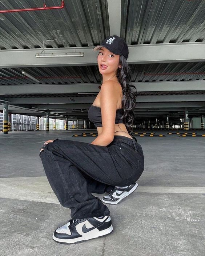
[[[92,104],[96,97],[74,97],[75,104]],[[10,104],[68,104],[73,103],[69,97],[28,97],[28,98],[8,98]],[[137,96],[137,104],[141,102],[179,102],[179,101],[205,101],[205,94],[199,95],[151,95]]]

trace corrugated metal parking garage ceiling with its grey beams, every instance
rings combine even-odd
[[[44,2],[62,4],[0,0],[0,11]],[[109,35],[129,47],[136,121],[182,118],[185,108],[189,117],[205,114],[204,0],[66,0],[61,9],[0,12],[0,111],[8,102],[9,113],[88,120],[101,85],[92,49]],[[43,41],[45,53],[84,56],[36,58]]]

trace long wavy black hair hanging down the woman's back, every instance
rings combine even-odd
[[[134,85],[130,84],[132,79],[132,71],[126,62],[126,59],[123,55],[120,55],[119,64],[121,68],[117,69],[117,78],[122,87],[122,109],[121,112],[123,115],[123,123],[126,126],[126,129],[131,137],[136,140],[132,135],[132,125],[134,124],[134,112],[133,109],[136,105],[136,96],[137,89]]]

